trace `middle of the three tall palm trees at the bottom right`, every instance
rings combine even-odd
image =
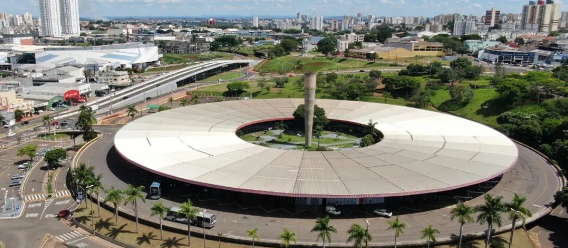
[[[487,222],[487,240],[485,242],[485,248],[489,245],[489,240],[491,238],[491,228],[493,224],[501,226],[501,213],[507,211],[507,206],[501,201],[503,196],[493,196],[490,194],[485,195],[485,204],[477,205],[474,207],[475,212],[479,212],[477,216],[477,222],[483,225]]]

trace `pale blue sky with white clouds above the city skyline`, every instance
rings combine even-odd
[[[502,13],[520,13],[528,0],[78,0],[81,17],[107,16],[435,16],[460,13],[485,15],[495,7]],[[561,0],[555,1],[562,4]],[[5,4],[6,3],[6,4]],[[0,12],[39,15],[39,0],[0,0]],[[566,10],[562,6],[562,10]]]

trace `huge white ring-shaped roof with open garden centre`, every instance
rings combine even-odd
[[[132,121],[116,150],[153,173],[187,183],[292,197],[385,197],[452,190],[507,171],[517,147],[485,125],[381,103],[316,100],[330,120],[373,120],[381,142],[303,152],[250,144],[236,130],[293,117],[303,99],[240,100],[174,108]]]

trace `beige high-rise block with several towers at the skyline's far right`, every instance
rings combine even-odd
[[[557,5],[552,0],[530,1],[523,6],[521,14],[521,29],[540,32],[551,32],[558,30],[558,19],[561,5]]]

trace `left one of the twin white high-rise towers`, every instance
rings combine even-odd
[[[59,0],[39,0],[41,30],[44,36],[61,35]]]

